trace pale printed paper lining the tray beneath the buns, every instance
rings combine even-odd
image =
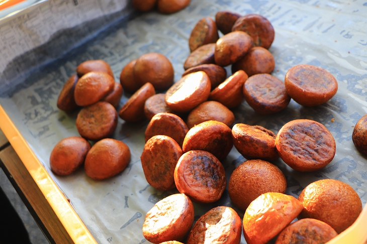
[[[63,17],[53,16],[56,12],[52,12],[49,16],[50,22],[59,23],[62,19],[70,18],[70,9],[67,6],[73,4],[72,1],[54,2],[64,3],[65,12]],[[79,3],[81,5],[81,1]],[[96,0],[94,3],[95,6],[90,8],[95,8],[99,2]],[[243,102],[233,110],[235,124],[260,125],[277,133],[284,124],[293,119],[308,118],[319,121],[335,138],[335,158],[324,169],[312,173],[294,171],[280,159],[273,162],[287,177],[287,193],[297,197],[309,183],[333,178],[351,185],[364,205],[367,199],[367,157],[355,149],[351,134],[357,120],[367,113],[366,5],[361,1],[341,3],[307,0],[192,0],[188,8],[176,14],[143,14],[127,23],[121,21],[113,25],[103,35],[66,54],[64,50],[60,50],[60,59],[22,76],[23,85],[15,85],[16,88],[3,93],[0,103],[49,170],[49,156],[56,143],[65,137],[78,135],[75,127],[77,113],[70,115],[58,110],[56,101],[64,82],[75,72],[79,63],[90,59],[103,59],[111,65],[118,82],[121,69],[128,62],[145,53],[159,52],[172,62],[177,81],[184,72],[183,64],[190,53],[190,33],[201,18],[209,16],[214,19],[215,14],[221,10],[230,10],[242,15],[261,14],[270,20],[276,31],[275,40],[269,49],[276,60],[276,68],[272,75],[284,80],[291,67],[297,64],[312,64],[334,75],[339,88],[330,101],[320,106],[303,107],[292,100],[284,111],[268,116],[255,113]],[[45,13],[51,11],[43,10]],[[74,14],[71,16],[74,17]],[[81,20],[84,20],[83,18]],[[33,23],[39,22],[34,19]],[[29,26],[32,26],[31,23]],[[36,30],[41,33],[36,36],[43,37],[43,41],[34,43],[47,43],[49,31],[37,28]],[[0,23],[0,32],[3,31]],[[14,40],[22,40],[22,35],[25,34],[21,30],[18,31],[19,36],[11,34],[11,30],[8,35],[13,36]],[[21,39],[18,39],[19,37]],[[19,41],[17,45],[29,44]],[[24,52],[33,47],[27,46]],[[1,37],[0,51],[3,50],[4,38]],[[8,63],[21,53],[2,60],[0,68],[9,68]],[[227,68],[227,71],[230,75],[230,68]],[[7,80],[0,80],[0,85],[2,82]],[[130,94],[124,94],[119,108],[129,96]],[[332,118],[335,119],[334,122],[331,122]],[[100,243],[148,242],[141,232],[145,213],[158,200],[176,193],[176,190],[158,191],[145,180],[140,155],[147,124],[147,120],[128,124],[119,118],[113,137],[130,147],[132,159],[129,166],[116,177],[94,181],[85,175],[83,169],[67,177],[55,176],[49,170],[82,221]],[[243,157],[233,148],[222,162],[226,169],[227,182],[232,171],[243,161]],[[196,219],[217,205],[231,206],[240,217],[243,216],[243,211],[230,202],[226,190],[218,202],[208,205],[195,204]],[[241,243],[245,243],[243,237]]]

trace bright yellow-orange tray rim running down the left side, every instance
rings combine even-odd
[[[0,128],[74,243],[97,243],[1,105]]]

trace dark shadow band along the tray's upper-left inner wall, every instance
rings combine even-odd
[[[126,26],[128,21],[136,16],[137,13],[128,6],[120,12],[54,33],[47,43],[16,57],[7,65],[0,74],[0,80],[5,81],[0,87],[0,97],[12,97],[18,90],[31,86],[45,74],[57,70],[60,64],[84,53],[90,44],[98,43],[112,32]],[[82,61],[85,60],[80,60]],[[69,74],[75,71],[66,72]]]

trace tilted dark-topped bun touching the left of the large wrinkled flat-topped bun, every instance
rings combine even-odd
[[[276,160],[276,135],[260,126],[236,124],[232,128],[233,145],[246,159]]]

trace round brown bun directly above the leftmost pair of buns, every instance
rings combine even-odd
[[[98,141],[110,136],[117,127],[117,112],[106,101],[83,107],[76,117],[76,129],[87,140]]]

